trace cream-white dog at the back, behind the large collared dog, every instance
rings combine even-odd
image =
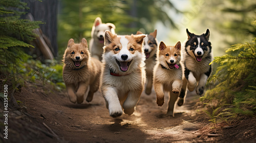
[[[93,23],[91,41],[89,45],[89,50],[91,56],[101,60],[101,55],[103,53],[104,46],[104,33],[106,30],[111,31],[115,34],[115,25],[113,23],[102,23],[100,17],[97,17]]]

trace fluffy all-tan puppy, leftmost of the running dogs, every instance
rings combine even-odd
[[[82,103],[83,95],[90,85],[87,102],[92,101],[93,94],[99,87],[101,62],[90,57],[87,40],[82,38],[81,43],[68,42],[63,55],[63,80],[66,84],[69,99],[73,103]]]

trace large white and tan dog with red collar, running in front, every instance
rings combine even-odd
[[[120,36],[106,31],[99,90],[110,116],[131,115],[145,83],[143,39],[146,35]]]

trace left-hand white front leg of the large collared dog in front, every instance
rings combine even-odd
[[[118,117],[122,115],[123,110],[118,99],[117,91],[112,87],[105,88],[103,97],[108,105],[110,116]]]

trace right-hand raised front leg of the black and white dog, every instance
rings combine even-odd
[[[211,73],[211,66],[207,71],[207,73],[201,74],[200,76],[200,80],[196,89],[196,92],[199,96],[201,96],[204,93],[204,86],[207,82],[208,77],[210,76],[210,73]]]

